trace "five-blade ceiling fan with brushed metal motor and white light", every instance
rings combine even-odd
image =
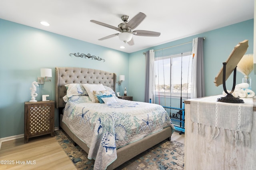
[[[118,36],[121,41],[124,43],[128,43],[129,45],[134,45],[134,40],[132,38],[132,35],[135,36],[150,36],[150,37],[159,37],[160,32],[153,32],[153,31],[146,31],[146,30],[134,30],[141,22],[144,20],[146,15],[142,12],[138,13],[136,16],[134,16],[129,22],[129,16],[123,15],[121,17],[123,23],[119,24],[118,27],[111,26],[102,22],[98,22],[95,20],[90,20],[91,22],[94,22],[96,24],[99,24],[101,26],[105,26],[111,29],[114,29],[116,31],[119,31],[118,34],[112,34],[110,36],[106,36],[103,38],[100,38],[99,40],[106,40],[108,38],[112,38],[115,36]]]

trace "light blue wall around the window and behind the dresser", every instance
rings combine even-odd
[[[246,54],[253,53],[253,24],[254,21],[247,20],[238,24],[233,24],[209,32],[204,32],[195,36],[190,36],[173,42],[154,46],[148,49],[137,51],[130,54],[129,59],[129,88],[132,89],[130,95],[136,101],[144,101],[144,86],[145,86],[145,56],[143,52],[149,49],[162,49],[186,42],[191,42],[193,38],[205,37],[204,40],[204,66],[205,66],[205,84],[206,96],[218,95],[223,91],[223,86],[216,87],[214,85],[214,78],[222,67],[222,63],[226,61],[234,47],[243,40],[249,40],[249,47]],[[189,45],[180,45],[178,47],[170,48],[169,51],[173,54],[192,50],[192,43]],[[156,51],[156,55],[160,55],[161,51]],[[242,83],[242,73],[237,71],[236,84]],[[256,92],[256,75],[253,71],[250,73],[252,77],[252,90]],[[226,81],[227,89],[232,89],[233,74]],[[170,103],[167,99],[166,103]],[[180,107],[179,102],[174,101],[172,107]],[[163,105],[163,100],[160,102]]]

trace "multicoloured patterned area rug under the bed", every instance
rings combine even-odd
[[[87,153],[74,146],[70,137],[62,130],[55,130],[55,138],[78,170],[93,170],[94,160]],[[125,162],[115,170],[183,170],[184,144],[164,140],[145,152]]]

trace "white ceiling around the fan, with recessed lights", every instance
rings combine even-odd
[[[99,41],[119,32],[90,22],[118,27],[122,15],[139,12],[146,18],[135,30],[160,32],[159,37],[133,36],[132,46],[118,36]],[[252,19],[254,0],[0,0],[0,18],[132,53]]]

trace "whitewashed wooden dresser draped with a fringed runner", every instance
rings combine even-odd
[[[240,98],[244,103],[217,102],[219,97],[184,101],[185,169],[255,169],[256,97]]]

